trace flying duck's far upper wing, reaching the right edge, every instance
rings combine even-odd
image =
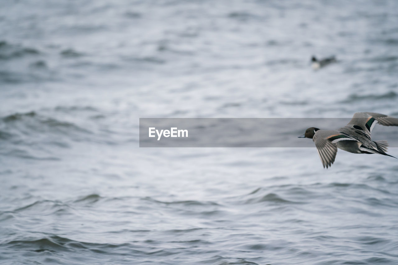
[[[398,119],[375,112],[356,112],[347,126],[353,126],[354,129],[363,131],[367,135],[372,133],[376,124],[384,126],[398,126]]]

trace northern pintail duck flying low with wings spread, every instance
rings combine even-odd
[[[357,112],[350,122],[337,130],[308,128],[299,138],[311,138],[323,166],[332,166],[337,148],[354,154],[387,155],[387,141],[372,141],[371,133],[376,124],[398,126],[398,119],[374,112]],[[387,155],[393,157],[392,155]],[[394,157],[396,158],[396,157]]]

